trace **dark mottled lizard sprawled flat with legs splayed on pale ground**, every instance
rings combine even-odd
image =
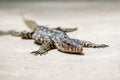
[[[61,52],[81,54],[83,47],[102,48],[108,47],[105,44],[95,44],[89,41],[69,38],[66,32],[75,31],[77,28],[48,28],[46,26],[37,26],[34,21],[25,20],[25,24],[31,28],[32,32],[11,31],[13,36],[22,39],[32,39],[36,44],[41,45],[37,51],[31,52],[34,55],[42,55],[51,49],[58,49]]]

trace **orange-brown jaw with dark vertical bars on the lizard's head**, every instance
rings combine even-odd
[[[74,46],[64,42],[60,44],[60,48],[61,51],[69,53],[81,53],[83,51],[83,48],[81,46]]]

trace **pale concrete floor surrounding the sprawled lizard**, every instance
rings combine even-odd
[[[78,27],[72,38],[105,43],[84,48],[85,55],[51,50],[29,53],[39,46],[31,40],[0,36],[0,80],[120,80],[120,2],[0,3],[0,30],[28,30],[20,13],[49,27]]]

